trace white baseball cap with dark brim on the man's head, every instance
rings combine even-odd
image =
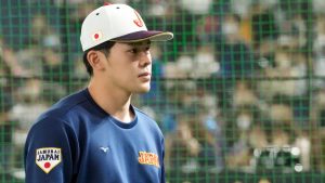
[[[91,12],[81,26],[82,50],[105,41],[136,42],[142,40],[167,41],[169,31],[147,30],[140,14],[126,4],[106,4]]]

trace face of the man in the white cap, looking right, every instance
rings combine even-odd
[[[152,76],[151,42],[116,42],[104,61],[103,82],[127,93],[150,91]]]

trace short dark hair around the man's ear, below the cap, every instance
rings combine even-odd
[[[91,65],[89,64],[88,62],[88,58],[87,58],[87,55],[88,55],[88,52],[91,51],[91,50],[95,50],[95,51],[101,51],[102,53],[105,54],[105,56],[107,57],[108,54],[109,54],[109,50],[110,48],[115,44],[114,41],[106,41],[106,42],[103,42],[96,47],[93,47],[91,49],[88,49],[83,52],[83,65],[86,66],[86,69],[87,69],[87,73],[89,74],[89,76],[92,76],[93,75],[93,70],[92,70],[92,67]]]

